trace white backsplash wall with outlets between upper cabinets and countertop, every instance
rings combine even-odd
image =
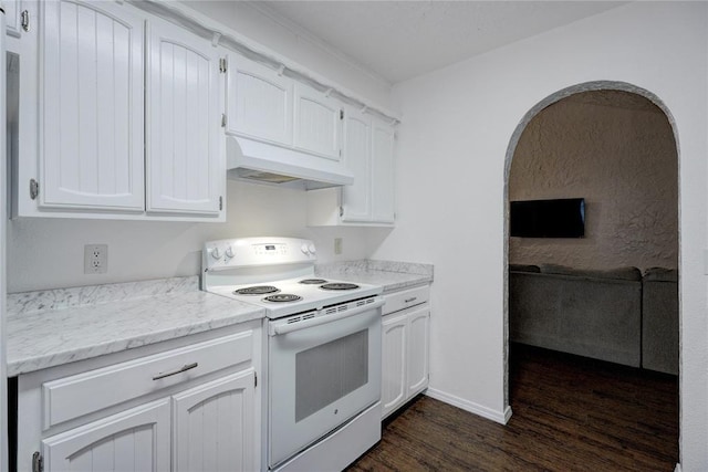
[[[227,195],[226,223],[11,220],[8,292],[197,275],[201,244],[222,238],[309,238],[317,247],[320,262],[364,259],[371,253],[372,237],[366,230],[305,228],[303,190],[229,181]],[[334,254],[334,238],[343,238],[342,254]],[[84,245],[93,243],[108,244],[105,274],[84,274]]]

